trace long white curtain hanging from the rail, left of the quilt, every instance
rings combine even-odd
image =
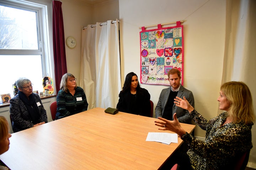
[[[88,109],[116,108],[121,90],[118,21],[82,30],[80,86]]]

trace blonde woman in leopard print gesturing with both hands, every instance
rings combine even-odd
[[[180,164],[188,160],[187,164],[191,169],[224,169],[227,166],[228,169],[232,169],[231,165],[234,164],[231,161],[234,157],[252,148],[251,127],[255,116],[251,92],[247,85],[238,81],[223,84],[218,101],[219,109],[225,112],[210,120],[204,119],[185,97],[183,99],[176,97],[174,103],[178,107],[187,109],[195,123],[206,130],[204,142],[182,129],[176,114],[173,121],[163,118],[159,118],[162,121],[155,121],[156,125],[161,127],[160,130],[171,130],[187,143],[189,148],[185,155],[187,159],[184,157],[180,159]]]

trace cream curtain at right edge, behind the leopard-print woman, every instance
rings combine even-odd
[[[249,86],[256,113],[256,1],[226,0],[226,38],[222,83],[243,81]],[[256,168],[256,126],[252,126],[248,165]]]

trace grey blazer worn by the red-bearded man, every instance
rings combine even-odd
[[[171,92],[171,87],[169,87],[167,89],[163,89],[161,91],[161,94],[160,94],[159,100],[158,100],[158,104],[156,104],[156,108],[155,108],[156,118],[162,117],[167,100],[170,95],[170,92]],[[185,89],[181,85],[177,96],[182,99],[183,99],[183,96],[185,96],[185,98],[191,104],[191,106],[194,107],[194,96],[190,90]],[[191,124],[191,118],[190,118],[189,112],[186,109],[182,109],[180,107],[175,106],[175,103],[173,104],[173,106],[168,106],[168,107],[172,107],[172,117],[173,117],[173,114],[176,113],[176,116],[177,116],[178,120],[180,121],[180,123]]]

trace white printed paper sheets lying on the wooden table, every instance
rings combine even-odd
[[[170,145],[171,142],[178,143],[178,135],[166,132],[148,132],[146,141],[155,141]]]

